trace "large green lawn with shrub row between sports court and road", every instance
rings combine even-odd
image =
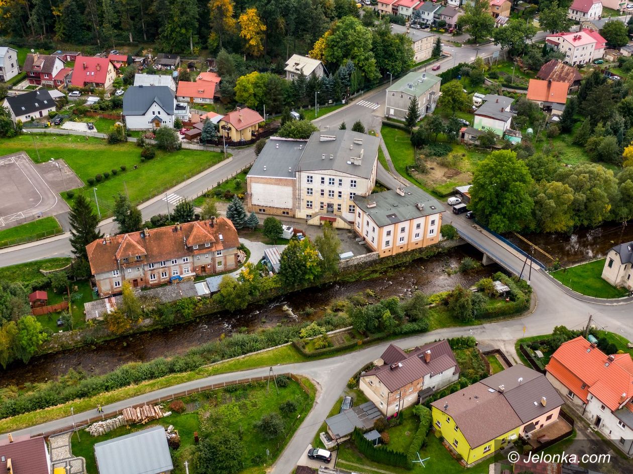
[[[222,153],[210,151],[179,150],[166,153],[158,150],[156,158],[141,163],[141,150],[132,143],[108,145],[101,139],[86,139],[77,135],[30,134],[3,140],[0,154],[25,150],[36,161],[33,139],[40,151],[39,161],[48,161],[51,157],[63,158],[86,184],[88,178],[99,173],[118,170],[116,176],[111,175],[104,182],[95,185],[102,218],[112,215],[114,196],[118,193],[125,194],[126,185],[130,201],[140,204],[215,165],[223,158]],[[125,172],[120,171],[121,165],[127,166]],[[134,165],[138,166],[137,170],[134,170]],[[77,192],[85,192],[87,197],[94,199],[94,191],[89,187],[77,189]]]

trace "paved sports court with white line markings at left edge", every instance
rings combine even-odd
[[[46,179],[54,175],[45,173],[52,167],[58,170],[60,186]],[[26,153],[0,156],[0,229],[68,211],[68,205],[58,194],[63,187],[61,181],[65,180],[63,173],[67,173],[65,168],[68,166],[64,163],[60,167],[56,163],[35,165]],[[68,181],[74,184],[77,180],[74,173],[72,178]]]

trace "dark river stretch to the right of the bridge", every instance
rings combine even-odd
[[[508,240],[529,252],[530,245],[515,235],[506,235]],[[604,224],[592,229],[575,230],[572,234],[522,234],[534,244],[534,258],[546,266],[553,261],[538,249],[544,250],[564,266],[575,265],[587,260],[606,256],[609,249],[622,242],[633,240],[633,222],[627,225]]]

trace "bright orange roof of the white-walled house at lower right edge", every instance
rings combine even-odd
[[[622,354],[611,359],[582,336],[558,347],[546,370],[583,401],[587,397],[581,394],[587,390],[612,411],[633,396],[633,361],[630,355]],[[582,389],[582,384],[586,384],[586,389]]]

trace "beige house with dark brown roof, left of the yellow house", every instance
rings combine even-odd
[[[361,375],[359,387],[387,416],[418,403],[460,377],[460,367],[446,340],[410,352],[390,344],[375,365]]]

